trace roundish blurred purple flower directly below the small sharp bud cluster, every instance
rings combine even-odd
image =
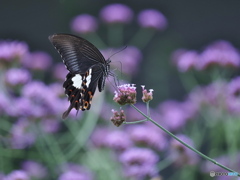
[[[105,145],[117,151],[124,151],[132,146],[132,142],[124,131],[112,131],[107,134]]]

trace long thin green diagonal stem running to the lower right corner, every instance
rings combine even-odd
[[[183,144],[184,146],[186,146],[187,148],[191,149],[192,151],[194,151],[195,153],[197,153],[198,155],[202,156],[204,159],[211,161],[212,163],[216,164],[217,166],[229,171],[229,172],[236,172],[220,163],[218,163],[217,161],[215,161],[214,159],[206,156],[205,154],[201,153],[200,151],[196,150],[195,148],[193,148],[192,146],[186,144],[185,142],[183,142],[181,139],[177,138],[174,134],[172,134],[171,132],[169,132],[167,129],[165,129],[164,127],[162,127],[160,124],[158,124],[157,122],[155,122],[154,120],[152,120],[152,118],[148,117],[147,115],[145,115],[142,111],[140,111],[136,106],[134,106],[133,104],[131,104],[131,106],[136,109],[136,111],[138,111],[141,115],[143,115],[145,118],[147,118],[149,121],[151,121],[153,124],[155,124],[157,127],[159,127],[160,129],[162,129],[164,132],[166,132],[167,134],[169,134],[171,137],[173,137],[174,139],[176,139],[178,142],[180,142],[181,144]],[[237,175],[240,177],[240,174],[238,172],[236,172]]]

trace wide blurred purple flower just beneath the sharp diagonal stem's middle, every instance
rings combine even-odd
[[[164,150],[167,146],[167,141],[159,129],[147,125],[134,125],[127,129],[127,132],[138,145],[151,146],[157,150]]]

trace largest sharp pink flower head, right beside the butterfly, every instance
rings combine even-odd
[[[118,86],[118,91],[115,91],[113,100],[120,104],[135,104],[136,103],[136,87],[134,84],[123,84]]]

